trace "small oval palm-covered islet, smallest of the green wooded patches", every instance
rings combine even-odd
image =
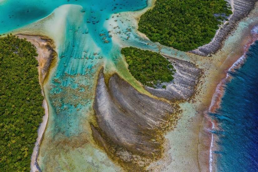
[[[145,86],[156,88],[158,84],[174,79],[174,66],[159,53],[134,47],[122,48],[121,53],[130,73]]]

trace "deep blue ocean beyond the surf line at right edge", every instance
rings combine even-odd
[[[214,154],[216,171],[258,171],[258,41],[253,43],[240,69],[230,73],[217,114],[220,131]]]

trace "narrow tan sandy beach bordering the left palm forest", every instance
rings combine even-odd
[[[22,35],[18,34],[16,35],[19,38],[26,38],[27,41],[33,43],[35,47],[37,48],[38,53],[38,74],[39,74],[39,82],[41,85],[41,88],[43,88],[44,80],[48,76],[48,70],[50,68],[50,64],[53,61],[53,59],[56,57],[56,52],[54,51],[54,44],[53,41],[49,38],[39,36],[39,35]],[[43,89],[42,94],[44,95]],[[47,122],[48,122],[48,104],[46,99],[43,100],[43,108],[45,109],[45,115],[43,116],[43,122],[40,124],[38,128],[38,138],[35,143],[35,147],[33,149],[33,153],[31,156],[31,172],[35,171],[41,171],[37,159],[38,159],[38,153],[39,153],[39,145],[42,140]]]

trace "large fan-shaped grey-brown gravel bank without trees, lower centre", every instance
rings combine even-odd
[[[176,105],[139,93],[117,74],[108,86],[99,74],[94,100],[94,139],[126,171],[144,168],[163,153],[164,132],[178,119]],[[98,131],[97,131],[98,130]]]

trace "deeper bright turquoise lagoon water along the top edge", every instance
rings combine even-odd
[[[107,16],[112,13],[139,10],[146,7],[146,1],[144,0],[7,0],[2,5],[0,4],[0,33],[44,18],[52,13],[55,8],[64,4],[81,5],[83,7],[82,11],[85,11],[85,19],[89,19],[90,22],[96,21],[95,26],[89,25],[93,30],[96,28],[99,28],[98,30],[103,29],[101,25]],[[91,16],[96,18],[91,18]],[[97,21],[99,21],[99,24]]]

